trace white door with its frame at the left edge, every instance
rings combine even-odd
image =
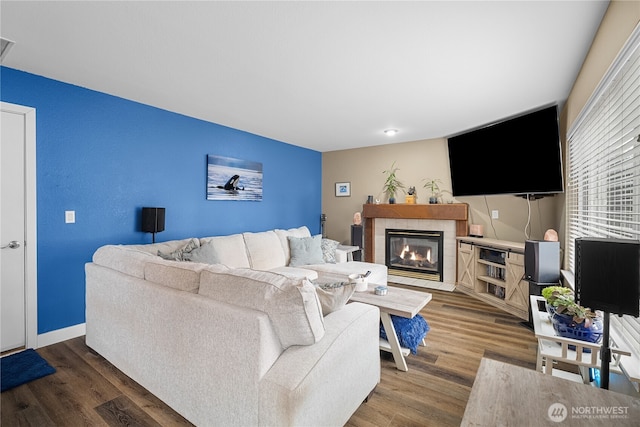
[[[25,173],[26,164],[30,164],[26,161],[26,156],[33,154],[35,157],[35,152],[31,153],[28,147],[31,142],[35,143],[35,119],[29,117],[29,112],[35,116],[33,109],[2,104],[0,118],[0,247],[2,248],[0,249],[0,345],[2,351],[25,347],[27,344],[33,345],[33,335],[37,334],[34,325],[35,313],[31,312],[35,305],[27,304],[27,297],[29,296],[30,299],[34,297],[31,291],[35,285],[27,286],[26,280],[27,272],[35,268],[35,265],[25,268],[27,267],[25,250],[27,218],[30,216],[26,215],[26,209],[33,209],[32,214],[35,214],[35,206],[30,206],[32,200],[29,197],[31,186],[34,186],[35,191],[35,182],[27,179],[28,174]],[[31,129],[31,126],[34,128]],[[32,137],[34,140],[30,141]],[[33,244],[35,245],[35,240]]]

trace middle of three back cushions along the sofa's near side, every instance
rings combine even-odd
[[[180,291],[197,293],[200,287],[200,272],[205,266],[157,259],[145,263],[144,278]]]

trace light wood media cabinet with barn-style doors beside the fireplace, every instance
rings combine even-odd
[[[524,243],[458,237],[456,288],[521,319],[529,319]]]

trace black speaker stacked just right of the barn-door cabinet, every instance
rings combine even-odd
[[[524,278],[530,282],[554,283],[560,280],[560,242],[524,242]]]

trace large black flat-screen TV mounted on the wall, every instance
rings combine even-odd
[[[558,107],[543,107],[448,138],[454,197],[564,191]]]

